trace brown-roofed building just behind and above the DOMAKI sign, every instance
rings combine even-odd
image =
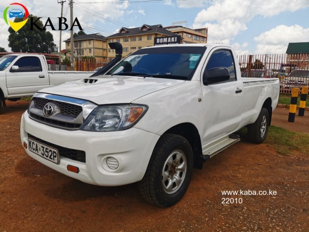
[[[208,28],[190,29],[183,26],[168,26],[164,28],[180,35],[180,43],[207,43]]]

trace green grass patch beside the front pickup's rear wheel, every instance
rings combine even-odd
[[[247,128],[241,128],[236,134],[246,140]],[[309,154],[309,134],[295,133],[281,127],[270,126],[264,143],[275,147],[276,151],[282,155],[292,154],[298,151]]]

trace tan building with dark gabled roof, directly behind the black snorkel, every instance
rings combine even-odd
[[[154,45],[156,37],[174,36],[175,34],[159,25],[144,24],[141,27],[126,28],[122,27],[118,33],[106,37],[107,43],[119,42],[123,47],[122,56],[127,56],[129,53],[136,51],[142,47]],[[115,57],[114,49],[110,49],[107,45],[108,61]]]

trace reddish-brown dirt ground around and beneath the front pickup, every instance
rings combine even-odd
[[[0,231],[309,231],[306,154],[282,156],[270,144],[241,141],[194,170],[183,199],[162,209],[144,201],[137,184],[92,186],[30,158],[19,137],[28,102],[7,104],[0,110]],[[309,133],[309,111],[295,124],[287,117],[288,109],[276,109],[273,125]]]

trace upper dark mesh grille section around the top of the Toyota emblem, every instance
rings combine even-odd
[[[54,101],[54,100],[50,100],[46,98],[38,98],[38,97],[34,97],[34,100],[35,100],[35,106],[38,107],[39,109],[43,109],[44,105],[48,102],[54,102],[57,105],[59,105],[60,111],[63,114],[78,116],[83,111],[82,106],[70,104],[67,102]]]

